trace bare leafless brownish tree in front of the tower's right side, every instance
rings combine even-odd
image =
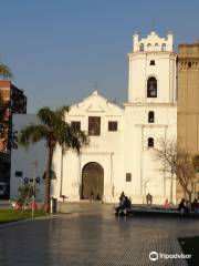
[[[179,181],[186,195],[191,202],[193,185],[196,181],[196,170],[193,161],[188,151],[182,149],[179,143],[171,140],[160,140],[157,147],[154,149],[155,158],[160,161],[160,171],[169,172],[171,174],[171,190],[172,195],[174,176]],[[172,197],[170,198],[172,202]]]

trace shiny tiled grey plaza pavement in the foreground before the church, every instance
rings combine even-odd
[[[64,204],[64,214],[0,226],[0,266],[187,265],[149,259],[181,254],[177,236],[197,235],[199,221],[115,217],[112,205]]]

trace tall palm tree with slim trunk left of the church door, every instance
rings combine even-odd
[[[69,106],[60,108],[55,111],[50,108],[39,110],[36,116],[40,124],[33,124],[24,127],[19,135],[19,144],[29,146],[41,140],[44,140],[48,149],[48,162],[45,172],[45,208],[50,212],[50,192],[51,192],[51,171],[53,152],[56,144],[64,149],[75,150],[78,154],[83,146],[88,145],[88,136],[76,130],[64,121],[64,114],[69,112]]]

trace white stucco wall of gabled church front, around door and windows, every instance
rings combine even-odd
[[[96,91],[83,102],[73,105],[65,120],[81,122],[81,130],[87,132],[88,116],[101,116],[101,134],[90,136],[90,145],[77,156],[73,151],[56,149],[53,157],[57,185],[53,191],[54,197],[67,196],[67,201],[80,201],[82,186],[82,171],[87,163],[96,162],[104,170],[104,201],[118,201],[123,186],[123,143],[124,143],[124,110],[109,103]],[[116,132],[108,131],[108,121],[117,121]],[[63,156],[63,157],[62,157]],[[59,167],[59,162],[62,166]],[[60,187],[61,186],[61,187]],[[55,187],[55,186],[54,186]]]

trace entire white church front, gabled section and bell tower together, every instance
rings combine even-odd
[[[115,203],[124,191],[133,203],[145,203],[148,193],[155,204],[170,198],[171,178],[159,171],[153,150],[158,140],[177,137],[172,34],[159,38],[153,31],[146,39],[135,34],[128,60],[128,99],[123,109],[94,91],[72,105],[66,114],[69,123],[90,135],[90,145],[82,149],[80,155],[56,147],[53,156],[56,177],[52,180],[53,197],[60,200],[64,195],[67,201],[77,202],[93,195],[95,200]],[[18,150],[12,155],[12,198],[23,180],[12,186]],[[175,203],[175,181],[172,186]]]

